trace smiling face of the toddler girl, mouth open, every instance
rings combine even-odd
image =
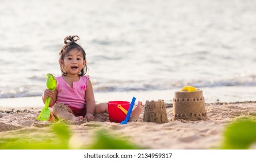
[[[83,53],[81,51],[72,49],[64,57],[62,63],[60,63],[60,67],[66,71],[67,75],[78,75],[85,66],[86,60],[83,60],[82,54]]]

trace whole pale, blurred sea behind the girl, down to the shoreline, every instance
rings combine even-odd
[[[98,102],[171,102],[186,85],[206,102],[256,100],[254,0],[0,3],[0,106],[39,99],[46,74],[60,75],[58,52],[73,34]]]

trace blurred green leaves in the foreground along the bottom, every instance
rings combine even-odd
[[[40,135],[38,134],[41,130]],[[98,130],[90,145],[77,147],[70,143],[72,132],[70,125],[58,121],[47,129],[20,129],[10,131],[8,136],[0,139],[2,150],[68,150],[68,149],[94,149],[94,150],[138,150],[143,149],[132,144],[128,139],[112,137],[106,130]],[[81,141],[81,140],[79,140]],[[84,140],[86,141],[86,140]],[[256,117],[240,118],[227,125],[224,129],[223,140],[219,149],[244,150],[256,143]],[[77,147],[77,148],[74,148]],[[254,146],[255,148],[255,146]]]

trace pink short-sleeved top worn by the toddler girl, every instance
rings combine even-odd
[[[62,76],[56,77],[56,91],[58,92],[56,103],[63,103],[71,109],[86,108],[85,91],[89,78],[90,76],[87,75],[80,76],[79,81],[73,82],[73,87],[71,88],[70,85],[64,81]]]

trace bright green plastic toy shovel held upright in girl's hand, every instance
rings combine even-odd
[[[54,91],[56,89],[57,81],[52,74],[48,73],[46,75],[46,86],[47,86],[47,89],[50,89],[52,91]],[[51,97],[48,97],[45,99],[45,106],[41,110],[41,113],[39,114],[39,116],[36,117],[37,120],[39,120],[39,121],[48,121],[49,120],[49,117],[51,115],[51,110],[48,109],[50,101],[51,101]]]

